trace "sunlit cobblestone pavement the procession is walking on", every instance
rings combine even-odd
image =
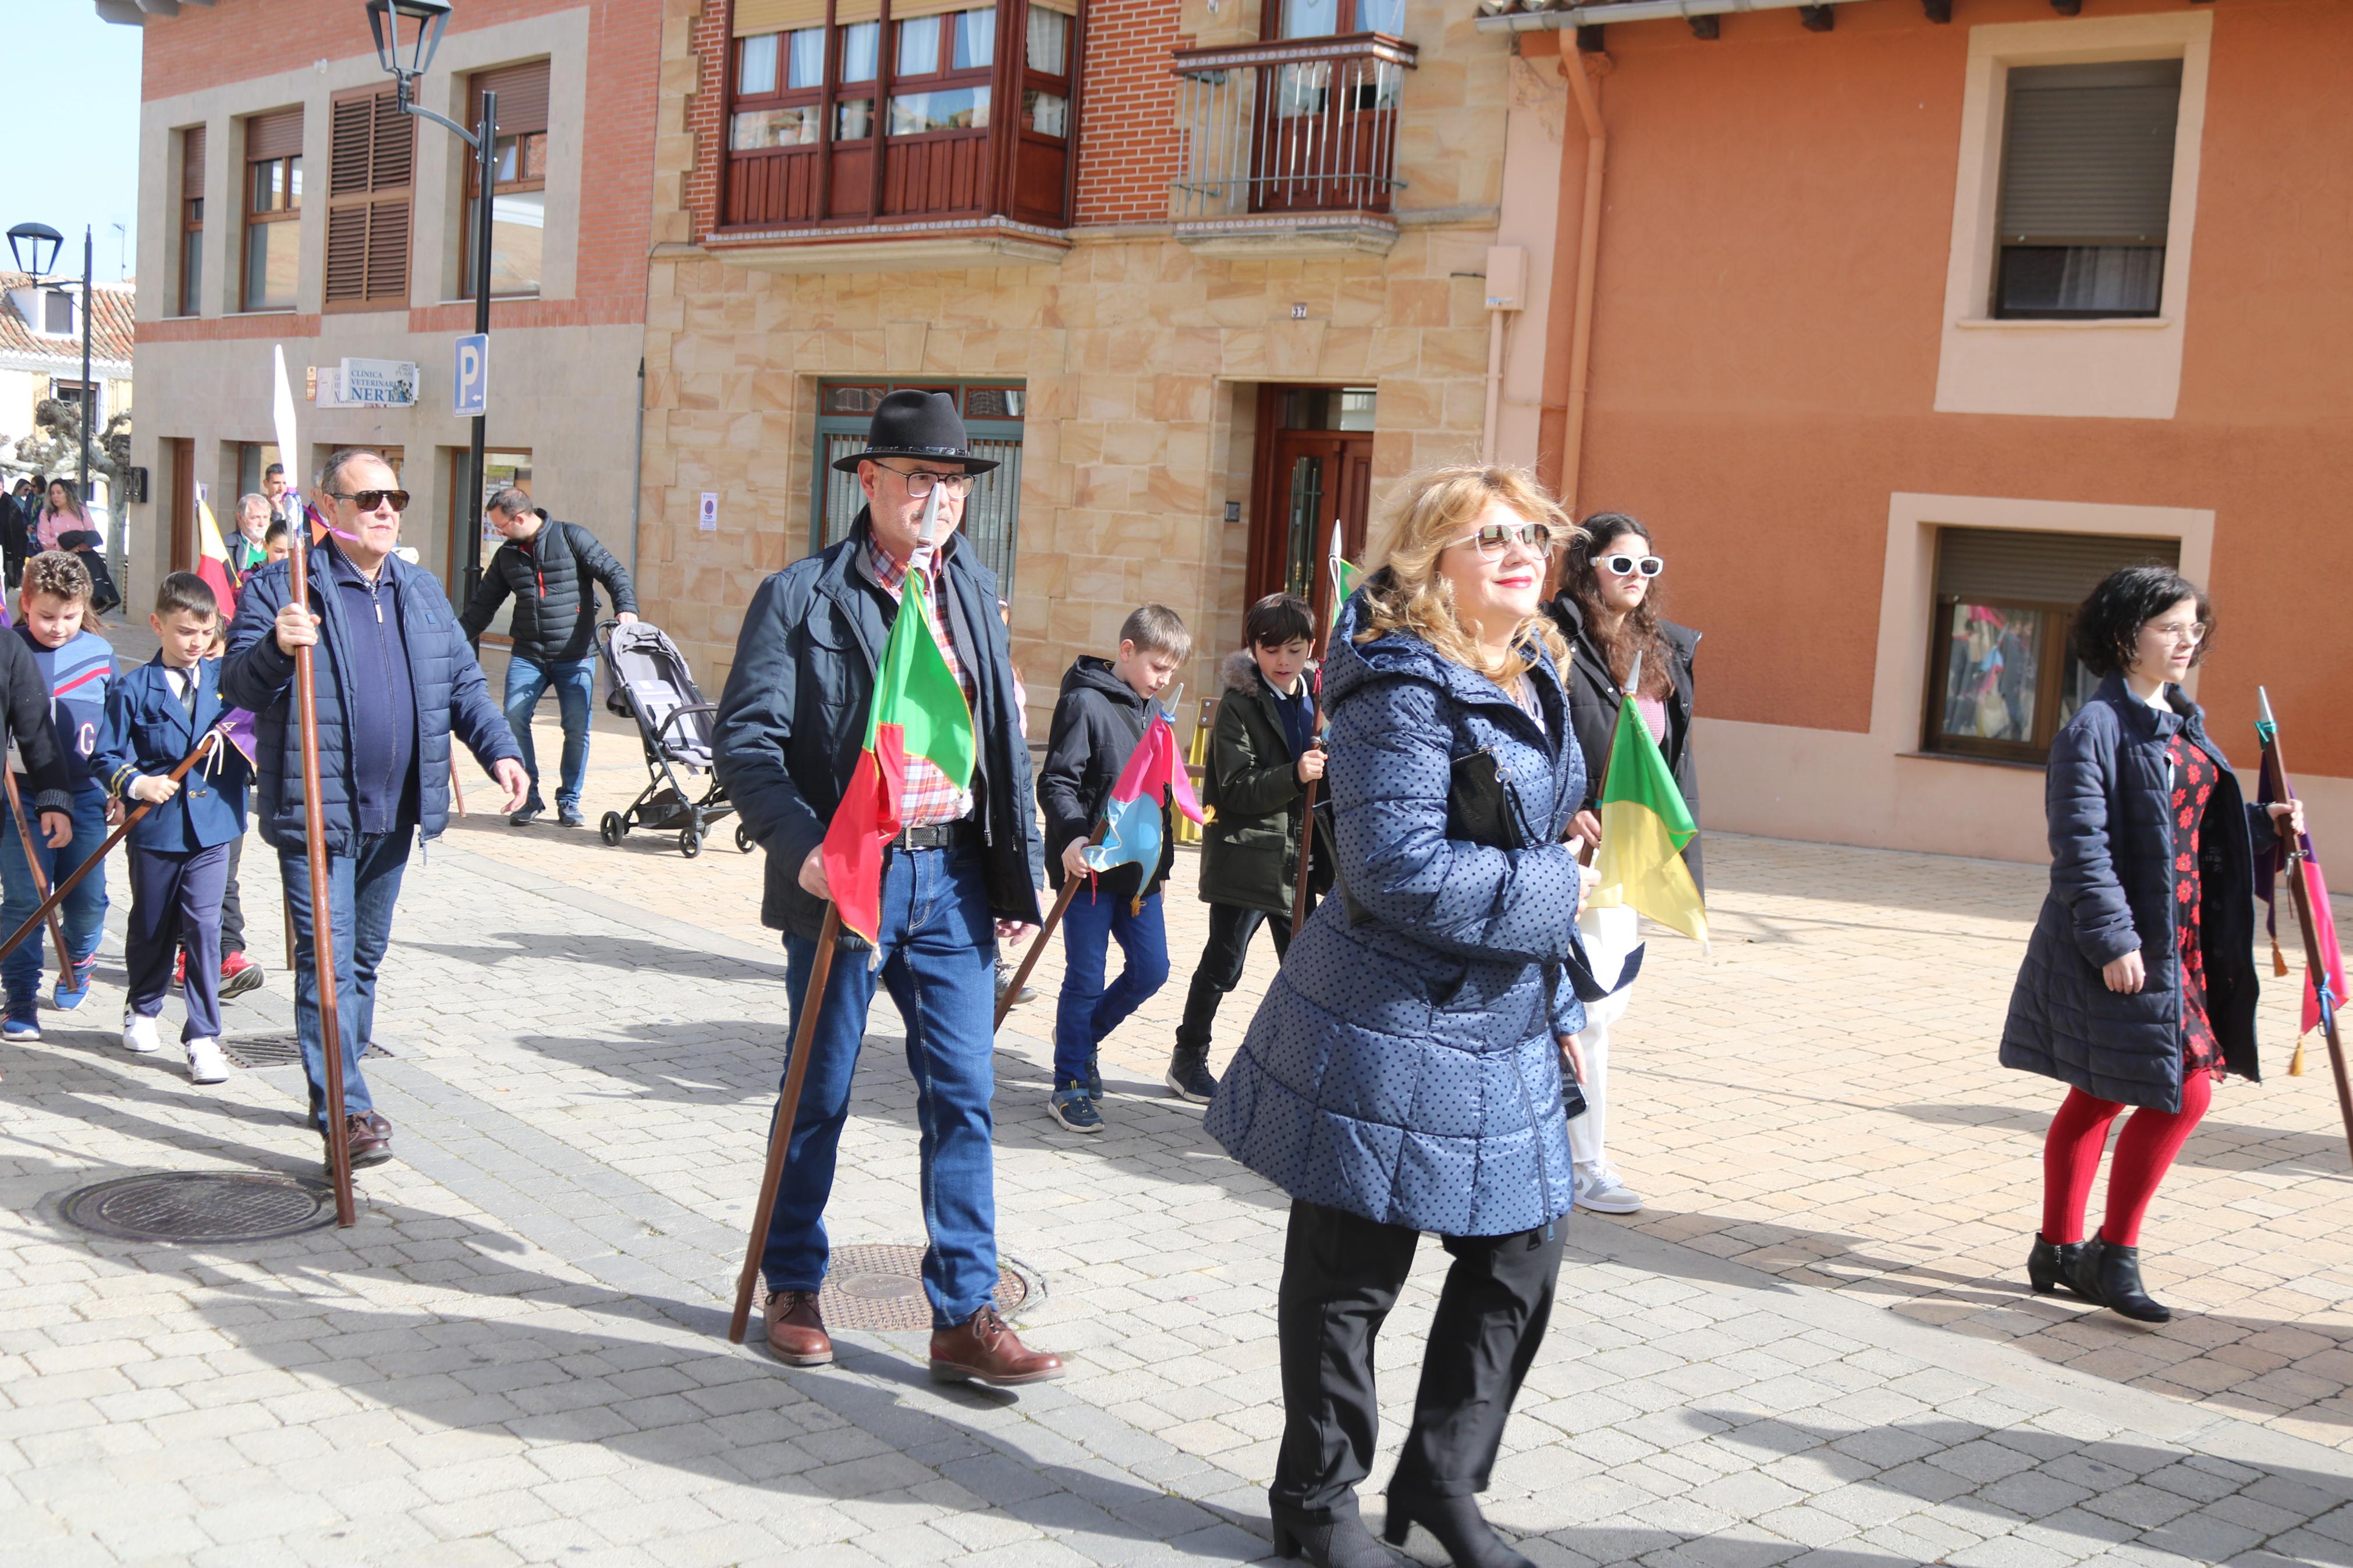
[[[595,762],[591,813],[642,780],[633,738]],[[2146,1232],[2169,1328],[2040,1302],[2017,1274],[2057,1095],[1991,1053],[2040,872],[1758,839],[1708,867],[1715,950],[1659,940],[1614,1051],[1649,1208],[1572,1225],[1499,1526],[1548,1566],[2353,1566],[2325,1067],[2233,1084],[2193,1138]],[[461,823],[386,964],[400,1161],[355,1229],[252,1246],[59,1220],[106,1175],[318,1157],[296,1070],[195,1088],[111,1044],[111,940],[85,1011],[0,1048],[0,1563],[1264,1556],[1285,1206],[1158,1091],[1200,905],[1172,900],[1172,983],[1106,1046],[1101,1138],[1042,1110],[1052,961],[1000,1037],[1002,1244],[1045,1286],[1019,1324],[1073,1366],[991,1394],[929,1385],[920,1333],[842,1333],[819,1373],[725,1342],[784,1044],[758,877],[725,832],[687,863]],[[278,971],[266,875],[247,903]],[[1268,973],[1261,947],[1224,1048]],[[231,1004],[273,1027],[280,973]],[[887,1001],[871,1030],[831,1227],[918,1241]],[[1426,1248],[1384,1340],[1391,1443],[1440,1274]]]

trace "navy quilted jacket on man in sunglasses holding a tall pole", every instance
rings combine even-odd
[[[311,548],[311,611],[322,618],[313,649],[318,670],[318,792],[327,818],[327,853],[360,851],[353,820],[358,785],[351,771],[351,722],[360,703],[374,698],[353,675],[351,628],[344,623],[341,595],[332,590],[334,545]],[[381,571],[400,590],[400,637],[409,658],[409,689],[416,696],[416,827],[433,839],[449,825],[449,736],[489,769],[501,757],[522,759],[506,715],[489,698],[482,665],[456,625],[456,614],[431,571],[409,567],[398,555],[384,557]],[[278,646],[275,623],[292,595],[292,562],[275,562],[245,578],[238,592],[238,621],[228,628],[228,656],[221,661],[221,696],[254,715],[259,783],[254,818],[261,842],[271,849],[304,846],[301,799],[301,724],[294,722],[294,656]]]

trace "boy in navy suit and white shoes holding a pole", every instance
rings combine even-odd
[[[122,1046],[139,1053],[158,1048],[155,1016],[172,983],[172,957],[186,947],[181,994],[188,1023],[179,1039],[188,1051],[188,1077],[198,1084],[228,1077],[228,1058],[221,1056],[221,889],[228,884],[231,846],[245,837],[249,766],[235,745],[219,741],[184,780],[174,780],[172,769],[226,712],[221,661],[205,658],[219,621],[221,607],[205,578],[174,571],[162,581],[148,618],[162,649],[115,679],[96,745],[101,778],[125,809],[153,806],[129,835]]]

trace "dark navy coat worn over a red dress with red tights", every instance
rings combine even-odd
[[[2268,813],[2249,806],[2205,712],[2167,686],[2169,712],[2111,675],[2052,741],[2045,804],[2052,891],[2026,943],[2009,994],[2002,1065],[2073,1084],[2101,1100],[2181,1110],[2181,957],[2177,842],[2167,741],[2181,733],[2221,778],[2200,827],[2207,1018],[2224,1065],[2259,1079],[2254,1053],[2254,842]],[[2101,969],[2139,952],[2148,971],[2134,994],[2111,992]]]

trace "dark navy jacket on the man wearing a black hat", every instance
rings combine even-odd
[[[760,583],[720,693],[713,769],[753,839],[767,849],[760,922],[805,938],[824,929],[826,905],[800,886],[800,865],[826,842],[826,825],[866,748],[875,670],[899,614],[859,569],[868,536],[861,510],[849,538]],[[939,581],[948,637],[976,686],[972,790],[986,839],[988,907],[998,919],[1035,926],[1038,802],[1014,712],[1012,644],[998,621],[998,578],[951,536]],[[852,940],[847,931],[842,940]]]

